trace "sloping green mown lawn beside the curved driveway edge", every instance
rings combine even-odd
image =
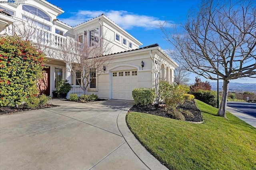
[[[204,123],[130,112],[126,122],[132,133],[169,169],[256,170],[256,128],[196,100]]]

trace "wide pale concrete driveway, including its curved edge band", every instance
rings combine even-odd
[[[132,103],[52,101],[0,116],[0,169],[166,169],[128,129]]]

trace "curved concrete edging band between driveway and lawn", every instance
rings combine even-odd
[[[120,111],[117,119],[118,129],[123,135],[125,141],[128,143],[132,151],[138,156],[138,158],[150,169],[150,170],[168,170],[164,165],[162,165],[148,150],[146,150],[141,143],[132,134],[130,129],[126,124],[126,113],[128,108],[124,108]]]

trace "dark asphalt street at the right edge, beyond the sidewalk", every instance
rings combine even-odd
[[[256,117],[256,103],[247,102],[228,102],[227,106],[238,109],[248,115]]]

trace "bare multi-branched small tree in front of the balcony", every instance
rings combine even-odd
[[[103,67],[107,67],[112,55],[112,41],[106,39],[106,32],[101,37],[88,39],[87,33],[84,32],[83,39],[77,34],[76,39],[68,38],[66,43],[59,45],[58,56],[68,64],[70,72],[76,79],[83,93],[92,83],[96,84],[96,77],[104,72]],[[91,38],[91,37],[89,37]]]

